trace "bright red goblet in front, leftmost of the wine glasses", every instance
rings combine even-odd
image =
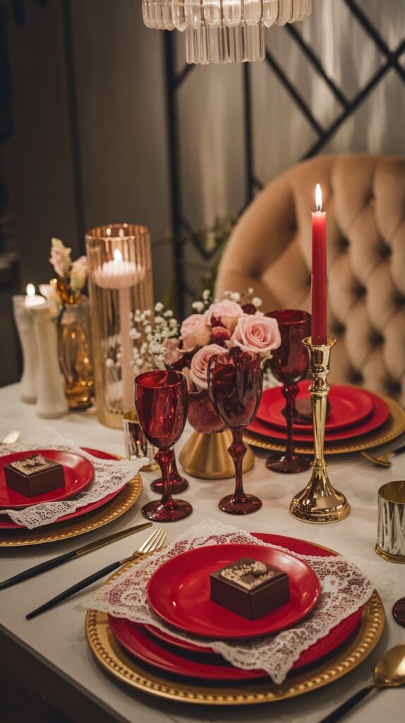
[[[156,522],[174,522],[193,511],[189,502],[173,500],[170,494],[172,446],[180,439],[187,419],[187,382],[181,372],[160,369],[136,377],[134,400],[145,437],[157,447],[155,460],[162,470],[162,499],[148,502],[142,514]]]

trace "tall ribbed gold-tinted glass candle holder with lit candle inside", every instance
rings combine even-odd
[[[121,429],[134,405],[134,348],[144,341],[131,338],[131,316],[136,309],[153,314],[149,231],[134,223],[98,226],[87,232],[86,249],[97,418]]]

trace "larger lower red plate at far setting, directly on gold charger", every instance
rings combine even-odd
[[[390,411],[386,402],[383,401],[383,399],[380,399],[380,397],[376,394],[372,394],[371,392],[368,393],[373,398],[374,406],[373,412],[368,419],[365,419],[365,422],[360,422],[360,424],[357,424],[355,427],[350,427],[349,429],[341,429],[338,432],[326,432],[325,442],[340,442],[341,440],[357,439],[357,437],[367,435],[368,432],[373,432],[387,421],[390,416]],[[253,432],[255,435],[268,437],[271,440],[282,440],[283,442],[287,441],[287,435],[285,432],[281,432],[279,429],[271,427],[270,424],[261,422],[257,417],[256,419],[253,419],[252,424],[249,424],[249,427],[246,427],[246,429],[248,429],[249,432]],[[303,432],[294,432],[294,441],[306,442],[310,445],[312,444],[312,435],[312,429],[308,429],[307,434],[304,434]]]

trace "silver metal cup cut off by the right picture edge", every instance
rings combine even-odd
[[[378,536],[375,552],[389,562],[405,562],[405,480],[378,490]]]

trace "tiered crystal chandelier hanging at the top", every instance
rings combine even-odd
[[[186,31],[186,60],[196,64],[264,60],[264,28],[311,9],[311,0],[142,0],[144,24]]]

